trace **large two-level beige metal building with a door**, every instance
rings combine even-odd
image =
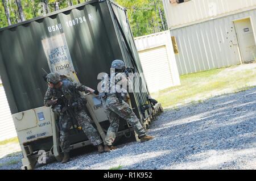
[[[255,0],[164,0],[180,74],[255,60]]]

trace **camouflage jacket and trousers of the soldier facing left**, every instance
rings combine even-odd
[[[52,106],[51,100],[58,99],[61,100],[63,95],[68,101],[68,104],[71,105],[73,112],[75,113],[76,119],[79,123],[79,126],[82,128],[88,139],[92,142],[93,145],[100,145],[102,143],[101,138],[97,130],[90,123],[91,119],[84,111],[86,100],[81,97],[79,91],[88,92],[88,87],[82,85],[81,83],[71,82],[67,79],[62,81],[63,85],[59,89],[49,88],[46,91],[44,96],[44,105],[46,107]],[[64,105],[54,105],[52,106],[53,111],[59,113],[59,128],[60,128],[60,141],[61,148],[64,152],[69,151],[70,143],[68,141],[68,131],[71,128],[71,115],[68,115],[67,112],[61,112],[61,108]]]

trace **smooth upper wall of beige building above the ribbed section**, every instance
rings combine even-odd
[[[163,4],[168,27],[177,28],[253,9],[256,0],[191,0],[177,5],[163,0]]]

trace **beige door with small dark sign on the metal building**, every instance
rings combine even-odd
[[[245,63],[255,60],[256,44],[250,18],[237,20],[234,24],[236,26],[242,62]]]

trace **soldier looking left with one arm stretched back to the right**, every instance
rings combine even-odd
[[[60,105],[59,100],[64,96],[67,103],[71,105],[72,112],[77,120],[79,127],[86,134],[89,140],[94,146],[98,147],[100,153],[104,152],[102,146],[102,140],[97,130],[90,123],[91,119],[86,114],[84,106],[86,100],[84,100],[79,91],[95,93],[93,89],[81,85],[81,83],[71,82],[68,79],[61,79],[58,73],[49,73],[46,77],[48,83],[48,89],[44,96],[44,105],[52,106],[54,112],[59,113],[59,128],[60,128],[60,142],[61,149],[64,152],[64,158],[62,163],[69,161],[70,142],[68,140],[69,129],[72,126],[72,115],[69,115],[67,108],[64,105]],[[59,100],[58,100],[59,99]]]

